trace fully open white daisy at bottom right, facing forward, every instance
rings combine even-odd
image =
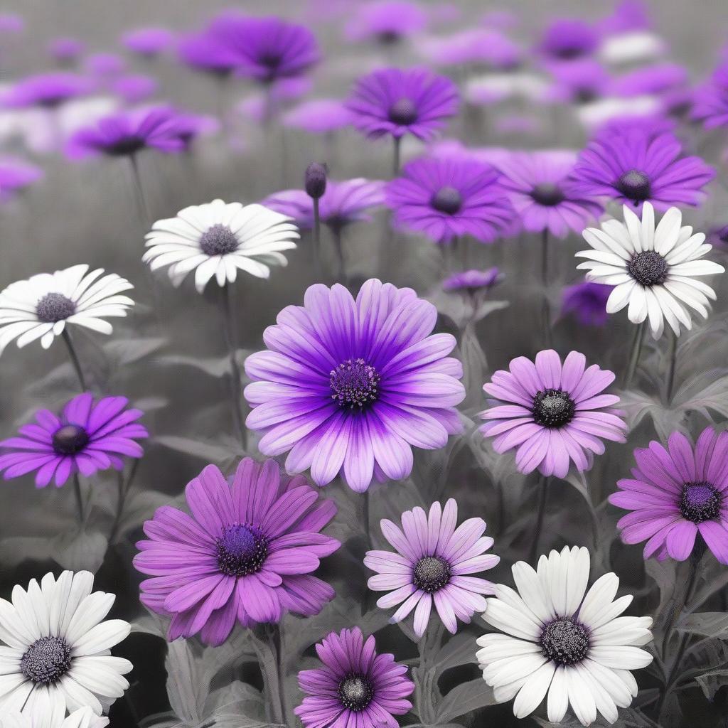
[[[499,703],[515,697],[513,713],[523,718],[547,697],[548,719],[563,720],[571,709],[585,726],[597,712],[617,720],[637,695],[629,670],[644,668],[652,655],[639,646],[652,640],[651,617],[620,617],[632,601],[614,601],[620,580],[604,574],[585,591],[589,552],[564,547],[539,559],[536,571],[525,561],[513,565],[518,592],[496,586],[483,619],[506,634],[478,638],[483,679]]]

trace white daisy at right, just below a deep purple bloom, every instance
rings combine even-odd
[[[679,336],[680,325],[691,328],[691,311],[708,317],[715,291],[698,277],[723,273],[724,267],[701,260],[713,247],[705,234],[692,234],[692,227],[682,226],[677,207],[662,216],[654,226],[654,209],[649,202],[642,207],[640,220],[625,205],[625,221],[607,220],[601,230],[587,228],[582,235],[591,245],[580,250],[577,258],[587,258],[578,269],[587,270],[587,280],[613,285],[606,302],[606,312],[613,314],[625,306],[632,323],[649,318],[652,336],[659,339],[665,321]]]

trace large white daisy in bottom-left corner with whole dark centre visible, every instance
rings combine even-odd
[[[102,621],[116,598],[91,593],[93,574],[63,571],[15,586],[0,599],[0,715],[66,715],[86,706],[100,715],[129,687],[132,663],[109,650],[129,622]]]

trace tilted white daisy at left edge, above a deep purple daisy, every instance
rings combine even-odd
[[[60,336],[66,323],[85,326],[100,333],[113,328],[105,319],[126,316],[134,301],[119,296],[134,286],[103,268],[71,266],[55,273],[39,273],[19,280],[0,293],[0,353],[17,339],[22,348],[36,339],[47,349]]]

